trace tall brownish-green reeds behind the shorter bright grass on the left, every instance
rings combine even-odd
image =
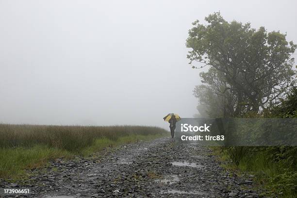
[[[46,126],[0,124],[0,148],[25,147],[36,144],[50,148],[79,151],[93,145],[96,139],[117,140],[128,135],[165,134],[164,129],[145,126]]]

